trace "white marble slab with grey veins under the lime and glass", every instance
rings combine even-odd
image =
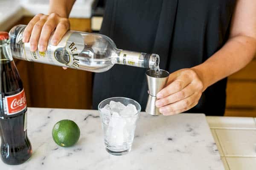
[[[73,147],[59,147],[52,140],[52,127],[61,119],[80,127]],[[32,158],[17,166],[0,161],[0,170],[224,170],[203,114],[141,113],[133,148],[125,156],[105,151],[98,111],[29,108],[28,134]]]

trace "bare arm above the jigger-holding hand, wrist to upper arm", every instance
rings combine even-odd
[[[198,73],[204,90],[224,77],[239,71],[256,54],[256,0],[238,0],[230,38],[212,57],[192,69]]]

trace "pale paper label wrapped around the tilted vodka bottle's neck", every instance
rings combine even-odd
[[[119,61],[117,62],[123,65],[140,67],[140,54],[139,52],[122,50],[119,54]]]

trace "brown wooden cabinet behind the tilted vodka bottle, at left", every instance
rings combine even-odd
[[[27,24],[24,17],[17,24]],[[90,19],[71,18],[71,30],[90,32]],[[90,109],[92,73],[15,60],[29,107]]]

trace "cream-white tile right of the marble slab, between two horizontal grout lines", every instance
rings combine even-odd
[[[215,129],[225,156],[256,156],[256,130]]]

